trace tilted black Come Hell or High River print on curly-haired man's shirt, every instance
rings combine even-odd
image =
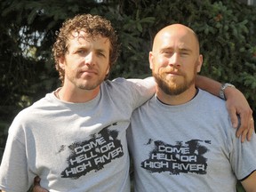
[[[89,140],[69,145],[68,167],[61,172],[61,177],[78,179],[93,170],[100,171],[105,164],[124,156],[121,140],[117,140],[117,136],[117,131],[106,127],[92,134]]]

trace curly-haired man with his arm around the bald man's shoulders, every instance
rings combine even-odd
[[[52,51],[62,86],[13,120],[0,188],[27,191],[38,175],[50,191],[130,191],[126,130],[132,111],[156,92],[153,78],[107,80],[119,44],[110,22],[100,16],[65,21]],[[213,87],[219,92],[219,83]],[[244,95],[228,89],[228,102],[244,106],[230,105],[233,116],[238,110],[252,116]]]

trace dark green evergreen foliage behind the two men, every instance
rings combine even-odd
[[[60,85],[51,48],[62,21],[77,13],[102,15],[116,28],[122,52],[110,78],[149,76],[156,32],[188,25],[200,40],[202,74],[235,84],[256,109],[256,7],[236,0],[2,0],[0,10],[0,159],[13,117]]]

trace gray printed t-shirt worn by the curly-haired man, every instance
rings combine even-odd
[[[126,129],[155,92],[153,78],[117,78],[86,103],[53,92],[15,117],[0,167],[0,188],[27,191],[39,175],[50,191],[130,191]]]

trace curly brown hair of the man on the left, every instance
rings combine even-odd
[[[110,42],[109,52],[109,71],[115,64],[119,56],[118,38],[115,29],[109,20],[99,15],[79,14],[72,19],[63,22],[60,32],[57,34],[56,42],[53,44],[52,52],[55,60],[55,68],[59,71],[60,81],[64,83],[65,71],[60,68],[59,59],[68,52],[68,37],[72,32],[80,32],[83,30],[88,37],[107,37]],[[106,76],[107,78],[108,76]]]

